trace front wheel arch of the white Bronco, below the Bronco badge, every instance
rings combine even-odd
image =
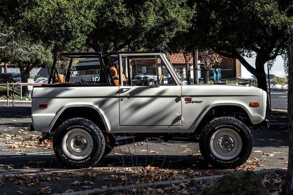
[[[215,111],[226,112],[226,114],[222,113],[222,114],[215,115]],[[221,116],[231,116],[230,113],[232,111],[236,112],[236,113],[243,113],[244,115],[246,115],[247,118],[246,119],[243,118],[243,120],[241,120],[241,121],[246,122],[246,123],[249,122],[249,124],[251,123],[251,116],[249,115],[250,112],[248,111],[248,109],[245,106],[238,104],[238,103],[228,103],[228,104],[227,103],[217,103],[217,104],[213,104],[213,105],[209,106],[200,115],[200,119],[197,120],[199,122],[196,125],[194,133],[200,135],[203,127],[205,127],[205,125],[207,125],[207,123],[209,123],[209,121],[213,120],[214,118],[221,117]]]

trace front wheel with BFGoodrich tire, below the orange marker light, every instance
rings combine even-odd
[[[216,168],[236,168],[249,158],[252,137],[248,127],[240,120],[220,117],[204,127],[199,146],[202,157],[210,165]]]

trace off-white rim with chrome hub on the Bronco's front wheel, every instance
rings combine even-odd
[[[210,147],[217,158],[230,160],[239,155],[242,148],[240,135],[228,128],[220,129],[211,137]]]

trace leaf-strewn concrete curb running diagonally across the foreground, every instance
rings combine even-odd
[[[265,174],[274,174],[276,172],[282,172],[282,169],[266,169],[266,170],[260,170],[260,171],[254,171],[256,175],[265,175]],[[207,177],[197,177],[197,178],[190,178],[190,179],[184,179],[184,180],[172,180],[172,181],[162,181],[162,182],[154,182],[154,183],[146,183],[146,184],[136,184],[136,185],[129,185],[129,186],[118,186],[118,187],[111,187],[111,188],[104,188],[104,189],[93,189],[93,190],[86,190],[86,191],[76,191],[76,192],[69,192],[69,193],[60,193],[62,195],[80,195],[80,194],[100,194],[107,192],[109,190],[112,191],[124,191],[127,189],[137,189],[137,188],[143,188],[143,187],[168,187],[172,184],[179,185],[181,182],[185,182],[188,180],[194,180],[194,182],[200,182],[201,180],[205,181],[212,181],[214,179],[218,180],[220,177],[224,175],[214,175],[214,176],[207,176]],[[52,194],[53,195],[53,194]]]

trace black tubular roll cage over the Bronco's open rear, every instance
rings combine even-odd
[[[167,54],[164,51],[112,51],[112,52],[88,52],[88,53],[84,53],[84,52],[57,53],[54,57],[53,65],[52,65],[50,75],[48,78],[48,84],[51,84],[51,80],[55,80],[56,75],[58,75],[56,62],[59,56],[70,58],[70,62],[66,71],[65,82],[69,82],[73,58],[98,58],[100,61],[101,69],[103,68],[103,71],[105,73],[107,83],[111,85],[113,84],[113,81],[104,62],[107,58],[109,59],[111,66],[114,67],[114,62],[118,60],[118,54],[153,54],[153,53],[161,53],[167,56]],[[111,59],[110,57],[112,57],[113,59]]]

